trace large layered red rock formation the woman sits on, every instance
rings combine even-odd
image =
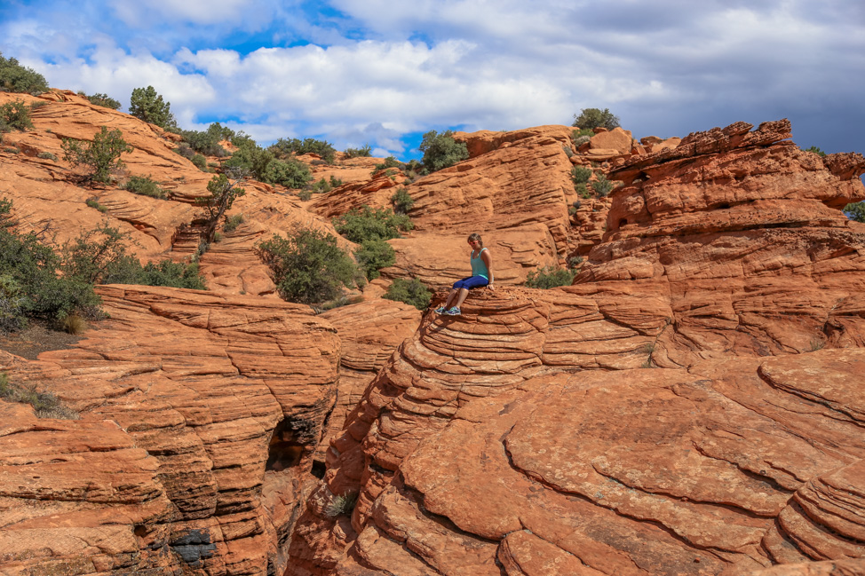
[[[574,286],[426,316],[287,573],[865,572],[865,226],[837,209],[865,159],[750,128],[623,162]]]

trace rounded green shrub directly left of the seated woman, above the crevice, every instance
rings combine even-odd
[[[357,269],[351,256],[328,233],[296,228],[288,238],[279,234],[256,247],[270,266],[280,296],[289,302],[315,304],[340,296],[353,287]]]

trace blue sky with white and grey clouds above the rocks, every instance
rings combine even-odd
[[[787,117],[799,146],[865,152],[862,0],[0,0],[0,51],[261,144],[408,160],[428,130],[608,107],[636,138]]]

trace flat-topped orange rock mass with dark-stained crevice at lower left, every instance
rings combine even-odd
[[[336,395],[339,340],[306,306],[99,288],[111,320],[12,382],[79,421],[0,402],[0,571],[282,572]]]

